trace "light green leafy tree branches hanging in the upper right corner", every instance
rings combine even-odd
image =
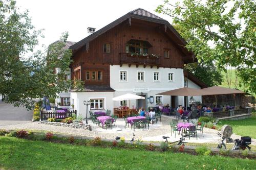
[[[256,94],[256,5],[250,0],[165,1],[156,11],[182,27],[186,47],[199,62],[214,61],[219,69],[236,67],[239,86]]]

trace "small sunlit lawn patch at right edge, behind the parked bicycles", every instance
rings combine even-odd
[[[221,120],[218,127],[230,125],[233,128],[233,133],[241,136],[250,136],[256,139],[256,116],[243,120]]]

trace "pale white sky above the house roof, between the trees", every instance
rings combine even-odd
[[[32,25],[37,30],[45,29],[45,38],[39,39],[39,42],[47,46],[66,31],[70,35],[68,41],[78,42],[88,36],[88,27],[96,28],[97,31],[137,8],[170,21],[169,16],[155,12],[163,0],[16,0],[16,3],[21,11],[29,10]]]

